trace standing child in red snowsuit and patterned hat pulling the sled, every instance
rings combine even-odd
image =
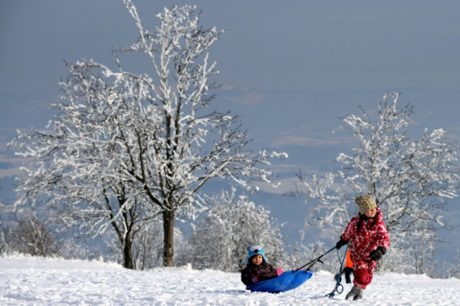
[[[350,258],[353,263],[352,290],[346,300],[362,299],[363,290],[372,281],[372,272],[390,245],[390,236],[386,231],[384,216],[370,194],[355,199],[360,213],[348,223],[345,232],[335,247],[340,249],[350,242]]]

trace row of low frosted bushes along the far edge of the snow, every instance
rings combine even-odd
[[[284,244],[282,225],[279,225],[270,216],[270,211],[263,206],[249,201],[246,195],[237,196],[234,190],[210,196],[209,201],[209,211],[202,213],[188,239],[179,228],[175,228],[174,265],[191,264],[194,269],[241,271],[246,264],[246,246],[260,243],[265,247],[270,264],[284,269],[294,269],[330,248],[330,242],[299,242],[291,254],[288,254],[289,246]],[[0,254],[21,252],[69,259],[103,257],[107,261],[123,262],[122,248],[116,237],[104,237],[103,242],[107,250],[101,251],[99,246],[91,249],[87,242],[78,242],[72,237],[57,237],[52,230],[52,224],[45,223],[40,218],[30,218],[16,223],[11,228],[1,228],[0,234],[6,239],[0,240]],[[35,239],[40,235],[49,239]],[[161,223],[150,223],[136,236],[132,245],[134,269],[144,270],[162,266],[162,235]],[[16,237],[21,237],[21,240],[17,240]],[[418,264],[410,260],[410,251],[409,249],[399,252],[391,247],[386,254],[387,260],[383,269],[398,273],[421,273]],[[343,250],[340,250],[340,256],[343,256]],[[429,276],[460,276],[458,256],[454,257],[453,262],[444,264],[445,269],[436,269],[434,261],[425,262],[421,266],[423,273]],[[331,273],[338,272],[339,261],[335,252],[330,253],[323,260],[323,264],[318,263],[312,268],[313,271],[320,269]]]

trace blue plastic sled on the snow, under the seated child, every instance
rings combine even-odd
[[[246,290],[251,290],[251,292],[280,293],[299,287],[311,278],[312,275],[311,271],[286,271],[275,278],[246,286]]]

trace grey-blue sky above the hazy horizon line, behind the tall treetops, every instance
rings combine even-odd
[[[145,25],[196,4],[226,29],[211,50],[229,86],[459,89],[459,1],[134,1]],[[61,59],[110,60],[136,34],[122,1],[1,0],[1,93],[49,93]]]

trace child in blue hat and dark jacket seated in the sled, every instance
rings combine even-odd
[[[263,247],[260,245],[251,245],[248,247],[248,259],[246,259],[246,268],[241,272],[241,281],[250,286],[258,281],[267,281],[275,278],[282,273],[282,269],[275,269],[271,264],[268,264],[263,252]]]

